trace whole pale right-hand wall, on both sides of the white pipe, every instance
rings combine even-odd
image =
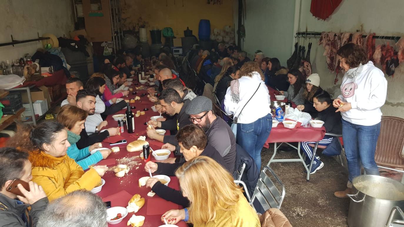
[[[276,3],[276,4],[275,4]],[[247,3],[246,33],[244,49],[254,52],[261,48],[269,57],[277,57],[282,65],[290,57],[293,25],[293,7],[295,1],[267,1],[251,0]],[[316,19],[310,12],[309,0],[301,1],[300,31],[335,31],[364,33],[375,32],[376,35],[404,35],[402,21],[404,16],[402,0],[343,0],[334,13],[325,21]],[[248,13],[250,12],[250,13]],[[263,21],[266,23],[263,23]],[[247,26],[248,25],[248,26]],[[254,26],[255,25],[255,26]],[[288,32],[287,32],[288,31]],[[300,39],[303,43],[303,39]],[[308,40],[305,41],[307,47]],[[334,85],[335,73],[330,73],[326,67],[326,58],[322,56],[324,48],[318,46],[318,38],[311,39],[311,63],[313,73],[320,75],[320,85],[336,97],[340,94],[342,76],[339,83]],[[376,40],[376,45],[388,40]],[[380,67],[380,65],[377,65]],[[386,104],[382,107],[383,115],[404,118],[404,98],[402,85],[404,84],[404,64],[401,64],[394,77],[388,77],[388,92]]]

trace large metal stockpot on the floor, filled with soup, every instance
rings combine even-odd
[[[361,175],[352,181],[349,227],[385,227],[393,206],[404,208],[404,185],[376,175]]]

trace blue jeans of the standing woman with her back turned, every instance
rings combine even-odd
[[[268,139],[271,128],[271,114],[249,124],[237,124],[237,143],[254,158],[258,169],[261,169],[261,150]]]

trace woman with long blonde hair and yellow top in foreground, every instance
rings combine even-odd
[[[204,174],[201,174],[204,173]],[[260,227],[255,210],[242,189],[219,163],[207,156],[192,158],[175,172],[190,206],[162,216],[170,224],[181,220],[195,227]]]

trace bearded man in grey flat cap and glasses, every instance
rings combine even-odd
[[[185,113],[192,123],[206,132],[208,144],[216,148],[232,173],[236,162],[236,138],[229,125],[213,112],[212,101],[198,96],[189,102]]]

